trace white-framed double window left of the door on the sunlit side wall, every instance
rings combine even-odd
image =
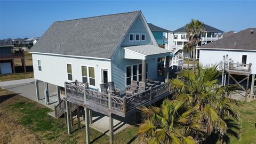
[[[95,86],[95,71],[94,67],[81,66],[82,81],[83,83],[89,83],[89,85]],[[89,74],[89,77],[88,77]],[[88,81],[89,78],[89,81]]]

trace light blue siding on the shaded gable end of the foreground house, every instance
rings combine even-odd
[[[129,33],[144,33],[146,34],[146,41],[144,42],[129,42]],[[147,33],[146,27],[142,23],[141,17],[139,17],[134,25],[131,27],[128,35],[125,37],[124,41],[121,44],[114,54],[113,59],[111,60],[111,76],[112,81],[115,82],[115,86],[117,86],[121,90],[125,90],[126,85],[126,66],[140,64],[141,60],[133,60],[133,59],[124,59],[124,48],[122,46],[129,45],[145,45],[151,44],[151,38]],[[134,37],[135,38],[135,37]],[[157,78],[157,58],[151,56],[147,59],[148,62],[148,78]]]

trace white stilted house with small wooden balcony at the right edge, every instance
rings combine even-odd
[[[255,97],[256,28],[247,28],[197,49],[201,65],[219,64],[228,73],[228,84],[232,80],[242,87],[245,98]]]

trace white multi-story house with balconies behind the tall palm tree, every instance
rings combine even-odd
[[[186,29],[187,27],[181,27],[173,31],[173,53],[177,54],[177,52],[182,52],[183,46],[188,43],[188,39],[186,38]],[[222,38],[223,31],[217,28],[211,27],[209,25],[204,24],[204,32],[201,34],[201,42],[198,46],[211,43],[213,41],[217,41]],[[196,58],[198,59],[199,50],[196,51]],[[185,53],[185,57],[188,53]],[[190,53],[191,54],[191,53]],[[192,56],[192,54],[191,54]],[[190,57],[192,58],[192,57]]]

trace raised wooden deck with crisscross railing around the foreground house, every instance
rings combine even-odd
[[[131,97],[121,98],[87,89],[85,83],[65,83],[67,101],[105,115],[116,114],[122,117],[133,114],[139,106],[148,106],[167,97],[170,95],[168,89],[168,85],[159,84]]]

